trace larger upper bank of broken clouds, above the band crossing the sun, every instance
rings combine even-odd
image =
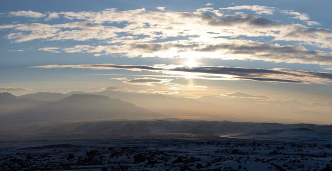
[[[259,5],[242,5],[216,10],[211,7],[197,9],[195,12],[171,12],[171,11],[147,11],[145,8],[119,11],[117,9],[104,9],[103,11],[82,12],[48,12],[45,20],[64,18],[77,22],[60,24],[23,23],[0,25],[0,29],[11,29],[6,38],[20,43],[36,39],[47,41],[63,40],[106,40],[108,43],[143,43],[155,40],[165,42],[167,37],[196,37],[202,40],[210,40],[218,37],[236,38],[248,37],[272,37],[278,41],[298,41],[319,47],[332,47],[331,35],[311,35],[309,39],[292,39],[286,35],[290,32],[306,32],[307,26],[299,23],[287,23],[274,21],[259,16],[250,16],[245,13],[224,14],[228,10],[252,10],[257,14],[273,14],[273,7]],[[283,10],[284,14],[293,15],[295,18],[306,21],[308,25],[318,24],[309,21],[309,16],[289,10]],[[307,18],[306,18],[307,17]],[[109,23],[125,22],[123,27],[110,26]],[[65,48],[66,52],[80,52]]]

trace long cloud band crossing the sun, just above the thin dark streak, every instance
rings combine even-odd
[[[289,40],[304,39],[305,35],[329,34],[324,30],[290,32]],[[302,35],[302,36],[301,36]],[[308,38],[308,41],[310,39]],[[227,42],[227,43],[218,43]],[[87,52],[104,54],[122,54],[126,57],[160,57],[160,58],[219,58],[230,60],[262,60],[269,62],[286,62],[300,64],[332,64],[332,54],[322,51],[309,51],[304,47],[280,46],[243,40],[219,39],[214,43],[189,43],[188,41],[166,43],[135,43],[125,45],[76,45],[63,49],[68,53]]]

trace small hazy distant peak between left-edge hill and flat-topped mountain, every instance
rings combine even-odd
[[[24,95],[20,96],[19,98],[58,102],[66,97],[68,97],[68,96],[65,94],[62,94],[62,93],[38,92],[38,93],[33,93],[33,94],[24,94]]]

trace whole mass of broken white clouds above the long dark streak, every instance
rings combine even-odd
[[[285,41],[297,41],[316,47],[332,48],[332,30],[311,29],[299,23],[274,21],[250,16],[243,12],[224,14],[225,10],[252,10],[256,14],[269,15],[281,11],[268,6],[242,5],[221,8],[221,10],[206,7],[197,9],[195,12],[147,11],[145,8],[126,11],[104,9],[97,12],[48,12],[45,20],[62,17],[62,19],[75,20],[75,22],[4,24],[0,25],[0,29],[9,29],[11,32],[6,38],[16,43],[32,40],[88,41],[94,39],[99,41],[97,43],[99,45],[79,43],[80,45],[59,49],[67,53],[93,53],[94,56],[103,54],[160,58],[192,56],[193,58],[331,64],[331,54],[326,52],[309,51],[304,47],[244,41],[239,37],[262,39],[268,37],[272,41],[284,41],[283,44],[287,44]],[[305,13],[287,10],[283,10],[283,13],[303,20],[308,25],[318,24],[316,21],[309,21],[310,18]],[[119,22],[127,24],[121,28],[110,26],[110,23]],[[169,37],[176,37],[179,40],[167,41],[166,38]],[[151,43],[152,41],[160,43]],[[222,48],[216,48],[218,46]],[[238,50],[246,49],[246,47],[248,50]]]

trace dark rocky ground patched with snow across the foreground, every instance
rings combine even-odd
[[[4,171],[328,171],[330,164],[332,145],[194,134],[0,141]]]

